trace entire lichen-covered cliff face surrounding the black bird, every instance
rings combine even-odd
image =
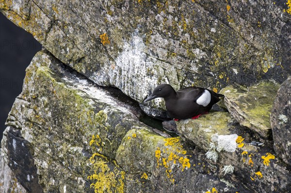
[[[291,189],[290,0],[3,0],[0,9],[46,48],[6,122],[2,192]],[[221,90],[227,110],[179,121],[171,137],[140,121],[138,103],[166,117],[162,101],[143,104],[160,83]]]

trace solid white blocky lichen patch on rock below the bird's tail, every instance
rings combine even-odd
[[[217,144],[218,148],[223,148],[228,152],[234,152],[237,148],[236,139],[238,138],[237,134],[230,135],[218,135]]]

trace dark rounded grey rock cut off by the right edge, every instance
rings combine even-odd
[[[280,87],[271,114],[274,150],[291,164],[291,77]]]

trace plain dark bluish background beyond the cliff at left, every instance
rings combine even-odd
[[[25,69],[41,47],[32,34],[0,13],[0,140],[12,104],[21,93]]]

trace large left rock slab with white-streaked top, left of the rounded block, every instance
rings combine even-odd
[[[6,124],[1,160],[31,193],[94,192],[91,183],[123,192],[116,151],[131,127],[146,127],[128,104],[47,51],[32,59]]]

